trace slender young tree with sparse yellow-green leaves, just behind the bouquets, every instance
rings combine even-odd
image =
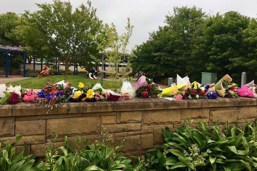
[[[97,39],[98,49],[103,52],[106,56],[106,61],[109,65],[112,66],[113,72],[111,73],[110,79],[112,80],[112,88],[114,91],[117,88],[121,87],[122,80],[119,79],[119,70],[127,70],[129,68],[129,60],[126,65],[126,69],[124,67],[119,68],[120,63],[123,61],[125,57],[128,57],[128,50],[126,46],[129,44],[129,39],[132,35],[133,25],[130,25],[130,20],[128,18],[127,26],[125,27],[126,32],[119,35],[116,26],[112,23],[111,26],[108,24],[103,25],[103,32],[100,34]],[[123,76],[121,76],[123,77]]]

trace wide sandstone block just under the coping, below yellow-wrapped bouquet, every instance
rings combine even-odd
[[[181,109],[164,109],[142,112],[142,126],[180,123]]]

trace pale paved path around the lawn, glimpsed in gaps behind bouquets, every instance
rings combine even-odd
[[[0,84],[6,84],[6,83],[9,83],[9,82],[18,81],[18,80],[21,80],[21,79],[28,79],[28,78],[31,78],[31,77],[23,77],[23,76],[20,76],[20,75],[12,75],[12,76],[8,75],[8,78],[6,78],[5,76],[0,77]],[[99,82],[101,82],[101,77],[98,77],[97,79],[99,79]],[[111,81],[108,78],[105,78],[103,80]],[[129,82],[131,83],[132,87],[135,89],[136,85],[137,85],[136,79],[130,80]],[[159,86],[160,86],[161,89],[167,88],[167,86],[165,86],[165,85],[159,85]],[[38,92],[38,91],[41,91],[41,89],[33,89],[33,91]]]

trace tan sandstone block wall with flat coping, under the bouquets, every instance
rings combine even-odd
[[[141,99],[117,102],[64,103],[47,113],[47,108],[38,104],[17,103],[0,106],[0,142],[15,142],[15,136],[23,135],[18,149],[27,142],[27,154],[44,156],[47,140],[52,132],[58,134],[56,145],[65,145],[64,136],[75,147],[76,135],[88,139],[88,144],[101,140],[101,131],[108,128],[112,136],[111,146],[119,146],[125,139],[122,153],[145,154],[146,150],[158,148],[164,141],[162,129],[175,131],[181,127],[187,116],[198,121],[206,120],[208,125],[219,120],[224,128],[230,124],[254,121],[257,114],[256,98],[218,98],[216,100]],[[3,145],[3,143],[2,143]]]

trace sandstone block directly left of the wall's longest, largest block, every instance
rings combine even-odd
[[[18,135],[46,134],[46,120],[16,121],[15,134],[18,134]]]

